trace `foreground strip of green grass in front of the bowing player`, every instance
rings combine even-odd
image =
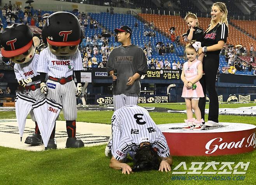
[[[145,171],[123,175],[109,168],[109,159],[104,156],[105,146],[78,149],[30,152],[0,147],[0,182],[2,184],[220,184],[219,181],[172,181],[171,172]],[[185,161],[191,162],[247,162],[251,164],[243,182],[255,184],[254,169],[256,152],[221,157],[173,157],[175,168]],[[8,160],[7,160],[8,159]],[[129,163],[132,164],[132,163]],[[204,166],[205,167],[205,166]],[[221,166],[218,166],[220,168]],[[180,169],[182,171],[182,168]],[[188,170],[187,170],[188,171]],[[234,182],[221,182],[234,184]]]

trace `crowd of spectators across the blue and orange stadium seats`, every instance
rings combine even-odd
[[[109,12],[109,11],[107,11]],[[82,29],[85,30],[95,29],[99,30],[98,22],[89,16],[89,14],[85,14],[84,12],[73,12],[82,26]],[[110,13],[114,14],[113,9],[110,9]],[[24,15],[24,16],[23,16]],[[5,4],[2,8],[2,17],[6,19],[7,26],[16,23],[24,23],[30,25],[37,25],[39,28],[42,29],[44,23],[46,22],[46,17],[43,17],[41,10],[34,10],[31,3],[26,7],[24,14],[21,10],[19,5],[12,4],[11,1],[9,4]],[[4,30],[4,26],[2,24],[2,20],[0,17],[1,23],[1,30]],[[138,27],[138,23],[134,24],[135,28]],[[182,63],[176,61],[174,59],[170,60],[165,57],[166,54],[173,54],[175,53],[175,46],[179,47],[180,40],[179,36],[175,36],[175,28],[170,28],[170,35],[172,42],[163,43],[158,42],[155,47],[151,45],[151,37],[156,36],[157,28],[154,25],[153,21],[146,22],[144,24],[145,31],[144,36],[149,37],[149,42],[144,44],[143,51],[147,58],[147,64],[149,69],[173,69],[173,70],[182,70]],[[149,29],[148,29],[149,28]],[[85,35],[82,43],[80,44],[80,51],[82,56],[82,63],[84,69],[87,70],[88,68],[105,68],[107,65],[107,59],[109,53],[117,47],[119,43],[114,42],[109,44],[109,39],[107,37],[103,37],[102,35],[105,33],[110,32],[109,30],[105,30],[107,28],[102,28],[102,32],[95,34],[95,35]],[[113,30],[112,30],[113,31]],[[110,33],[110,36],[114,36]],[[175,43],[175,46],[174,44]],[[40,38],[40,44],[43,44],[42,38]],[[42,48],[44,49],[44,48]],[[155,50],[155,51],[154,51]],[[222,73],[235,73],[235,71],[254,71],[256,68],[252,65],[255,63],[254,55],[253,55],[254,47],[251,45],[250,51],[246,51],[245,47],[224,47],[223,51],[221,52],[222,55],[225,56],[226,59],[226,66],[223,66],[219,69]],[[36,50],[36,53],[39,54],[40,51]],[[153,53],[157,53],[157,56]],[[242,61],[239,59],[239,56],[246,56],[247,53],[250,53],[251,59],[250,62]],[[158,57],[159,56],[159,57]],[[6,59],[5,64],[13,66],[14,63],[10,59]],[[232,67],[233,66],[233,67]]]

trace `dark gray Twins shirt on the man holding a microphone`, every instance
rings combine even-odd
[[[140,75],[147,73],[147,60],[143,50],[136,45],[114,48],[107,61],[107,72],[117,70],[117,80],[114,83],[113,94],[135,93],[140,94],[140,78],[132,86],[127,86],[129,77],[136,72]]]

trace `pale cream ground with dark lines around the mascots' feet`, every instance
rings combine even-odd
[[[84,141],[86,147],[107,144],[111,135],[109,124],[76,122],[77,138]],[[0,146],[17,148],[22,150],[41,151],[44,145],[30,146],[25,144],[25,139],[29,134],[34,133],[35,123],[31,119],[26,120],[26,126],[20,141],[18,122],[16,119],[0,119]],[[58,149],[65,148],[67,140],[66,122],[56,121],[55,138]]]

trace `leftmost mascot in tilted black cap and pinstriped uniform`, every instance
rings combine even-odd
[[[4,57],[11,58],[12,62],[15,63],[16,79],[24,87],[24,92],[28,93],[28,99],[30,97],[43,98],[44,96],[40,92],[40,76],[37,73],[39,55],[35,54],[35,47],[39,46],[40,43],[39,38],[33,37],[32,31],[27,25],[15,23],[5,28],[0,39],[3,47],[1,53]],[[34,146],[40,145],[42,144],[42,137],[33,110],[30,111],[30,115],[35,121],[35,133],[28,136],[25,143]]]

